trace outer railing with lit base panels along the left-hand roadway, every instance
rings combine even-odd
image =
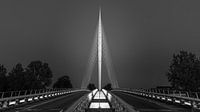
[[[78,91],[85,91],[80,89],[43,89],[43,90],[23,90],[23,91],[9,91],[0,93],[0,110],[23,105],[26,103],[49,99],[64,94],[69,94]]]

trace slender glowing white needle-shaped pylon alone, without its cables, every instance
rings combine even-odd
[[[99,23],[98,23],[98,89],[101,90],[101,73],[102,73],[102,22],[101,22],[101,9],[99,10]]]

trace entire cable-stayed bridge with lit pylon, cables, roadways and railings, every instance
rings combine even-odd
[[[24,90],[0,93],[2,112],[199,112],[200,93],[161,89],[120,88],[114,73],[99,11],[99,22],[81,89]],[[98,89],[89,91],[95,62]],[[112,91],[102,89],[105,63]]]

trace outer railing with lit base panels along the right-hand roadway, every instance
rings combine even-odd
[[[147,90],[147,89],[116,89],[114,91],[121,91],[129,94],[134,94],[138,96],[148,97],[164,102],[171,102],[174,104],[190,106],[195,109],[200,109],[200,99],[198,94],[183,92],[183,91],[155,91],[155,90]]]

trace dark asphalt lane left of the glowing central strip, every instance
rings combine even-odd
[[[50,100],[14,108],[6,112],[64,112],[87,92],[75,92]]]

